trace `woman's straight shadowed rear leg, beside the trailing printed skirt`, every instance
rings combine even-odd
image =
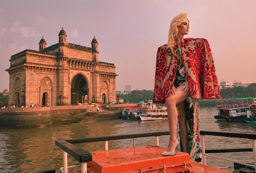
[[[179,127],[180,127],[180,141],[182,144],[182,151],[188,152],[188,131],[186,124],[185,101],[179,104]]]

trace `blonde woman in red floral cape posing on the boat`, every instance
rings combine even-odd
[[[198,99],[220,98],[220,89],[208,41],[187,34],[189,20],[180,13],[171,20],[168,44],[157,51],[153,102],[166,103],[168,112],[170,141],[162,155],[173,155],[180,138],[182,151],[195,160],[201,158]]]

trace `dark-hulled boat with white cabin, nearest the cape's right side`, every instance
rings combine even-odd
[[[247,116],[246,111],[250,108],[249,99],[253,99],[253,97],[236,98],[235,100],[242,100],[242,102],[232,105],[217,105],[218,115],[214,115],[214,118],[219,121],[244,121]]]

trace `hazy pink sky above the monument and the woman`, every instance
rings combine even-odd
[[[9,59],[25,49],[58,42],[91,47],[116,66],[116,90],[153,90],[157,48],[167,42],[171,19],[187,12],[187,37],[209,41],[218,81],[256,83],[255,0],[8,0],[0,1],[0,92],[9,87]]]

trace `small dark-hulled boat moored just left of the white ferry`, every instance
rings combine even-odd
[[[140,120],[142,107],[129,107],[122,111],[122,118],[125,120]]]

